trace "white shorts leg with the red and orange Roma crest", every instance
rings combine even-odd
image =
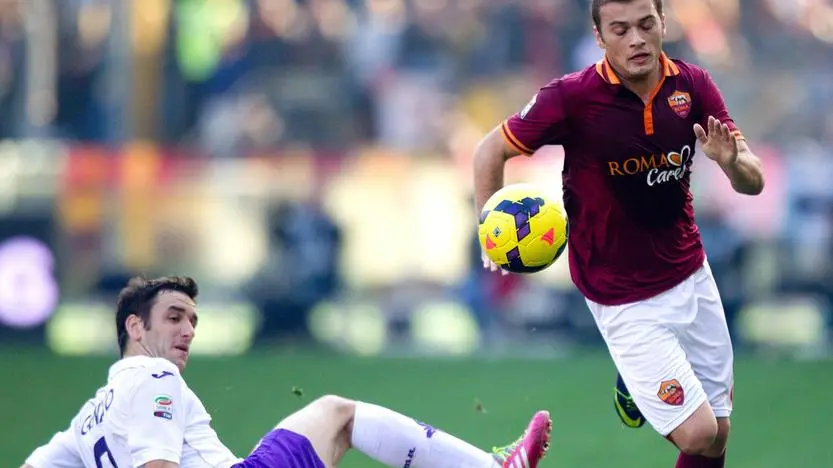
[[[588,304],[634,402],[654,429],[666,436],[694,414],[706,394],[670,325],[685,319],[678,317],[674,301],[661,302]]]

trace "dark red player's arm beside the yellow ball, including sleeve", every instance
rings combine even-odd
[[[477,216],[483,205],[503,187],[507,160],[532,155],[544,145],[560,144],[566,135],[566,109],[562,83],[541,88],[519,113],[489,132],[474,153],[474,199]]]

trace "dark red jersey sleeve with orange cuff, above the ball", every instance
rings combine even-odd
[[[501,124],[506,144],[531,155],[545,145],[560,145],[567,135],[567,110],[563,83],[553,81],[541,88],[517,114]]]

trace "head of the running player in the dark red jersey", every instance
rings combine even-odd
[[[654,0],[606,3],[599,17],[596,41],[622,78],[642,81],[659,69],[665,18]]]

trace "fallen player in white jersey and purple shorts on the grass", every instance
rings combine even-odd
[[[240,459],[182,378],[197,292],[188,277],[128,283],[116,311],[122,359],[69,427],[22,468],[330,468],[350,448],[411,468],[535,468],[544,457],[552,425],[546,411],[517,441],[487,453],[387,408],[331,395],[283,419]]]

